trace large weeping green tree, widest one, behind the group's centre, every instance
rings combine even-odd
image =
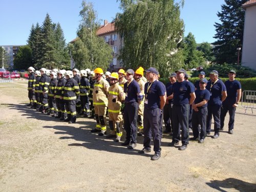
[[[126,68],[156,67],[162,76],[183,65],[183,21],[180,5],[174,1],[120,0],[115,27],[123,38],[120,50]]]

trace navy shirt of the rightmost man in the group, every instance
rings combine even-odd
[[[235,103],[237,100],[238,92],[237,90],[241,89],[241,83],[238,80],[225,81],[225,86],[227,89],[227,100],[232,103]]]

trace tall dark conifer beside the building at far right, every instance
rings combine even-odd
[[[221,23],[215,23],[216,34],[214,42],[216,62],[235,63],[237,61],[237,48],[243,45],[244,14],[241,8],[247,0],[225,0],[225,5],[221,6],[221,12],[217,15]],[[242,55],[242,51],[240,51]],[[241,56],[240,55],[240,56]]]

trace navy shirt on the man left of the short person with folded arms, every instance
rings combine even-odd
[[[175,105],[189,103],[190,93],[195,92],[194,84],[189,81],[176,82],[173,84],[172,93],[174,93],[173,103]]]

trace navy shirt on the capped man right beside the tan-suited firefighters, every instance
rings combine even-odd
[[[124,83],[123,87],[125,93],[124,102],[138,102],[137,93],[140,93],[139,83],[134,79],[129,84],[128,83],[128,81]]]

